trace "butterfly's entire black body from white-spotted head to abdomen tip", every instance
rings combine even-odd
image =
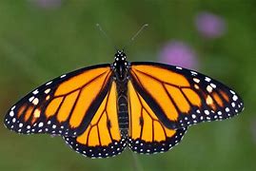
[[[117,85],[118,123],[123,138],[128,137],[128,62],[124,51],[118,50],[112,66]]]

